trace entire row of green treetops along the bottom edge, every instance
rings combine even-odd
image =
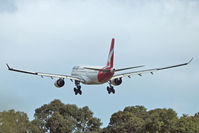
[[[107,127],[86,106],[54,100],[35,110],[29,121],[24,112],[0,112],[0,133],[199,133],[199,113],[180,118],[173,109],[126,107],[114,113]]]

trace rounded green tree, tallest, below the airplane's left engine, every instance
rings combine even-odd
[[[44,132],[87,133],[99,131],[101,126],[100,119],[93,117],[88,107],[65,105],[59,100],[36,109],[34,116],[38,128]]]

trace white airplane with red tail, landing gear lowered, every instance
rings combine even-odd
[[[41,76],[41,77],[50,77],[52,79],[58,78],[56,80],[56,82],[54,83],[54,85],[57,88],[64,86],[64,84],[65,84],[64,79],[69,79],[72,82],[74,81],[74,83],[75,83],[75,87],[74,87],[75,95],[77,95],[77,94],[82,95],[82,90],[81,90],[81,85],[80,85],[81,83],[86,84],[86,85],[99,85],[99,84],[108,83],[109,84],[107,86],[108,94],[111,94],[111,93],[115,94],[115,89],[113,88],[113,86],[121,85],[122,78],[124,78],[124,77],[130,78],[131,76],[134,76],[134,75],[142,76],[142,74],[144,74],[144,73],[153,74],[156,71],[188,65],[193,60],[193,58],[192,58],[191,60],[189,60],[186,63],[167,66],[167,67],[160,67],[160,68],[154,68],[154,69],[146,69],[146,70],[140,70],[140,71],[132,71],[132,72],[115,74],[116,72],[119,72],[119,71],[140,68],[140,67],[143,67],[143,65],[121,68],[121,69],[115,69],[113,67],[114,43],[115,43],[115,39],[112,38],[110,51],[109,51],[109,54],[108,54],[108,61],[107,61],[106,66],[104,66],[104,67],[74,66],[70,76],[69,75],[60,75],[60,74],[51,74],[51,73],[31,72],[31,71],[26,71],[26,70],[19,70],[19,69],[11,68],[8,64],[6,64],[6,65],[7,65],[8,70],[10,70],[10,71],[32,74],[32,75],[38,75],[38,76]]]

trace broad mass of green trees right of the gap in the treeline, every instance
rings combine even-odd
[[[199,113],[177,117],[172,109],[147,112],[143,106],[126,107],[111,116],[103,133],[199,133]]]

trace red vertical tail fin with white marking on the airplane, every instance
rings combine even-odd
[[[112,68],[113,67],[113,59],[114,59],[114,43],[115,43],[115,39],[112,39],[111,42],[111,47],[110,47],[110,51],[109,51],[109,55],[108,55],[108,61],[107,61],[107,67]]]

